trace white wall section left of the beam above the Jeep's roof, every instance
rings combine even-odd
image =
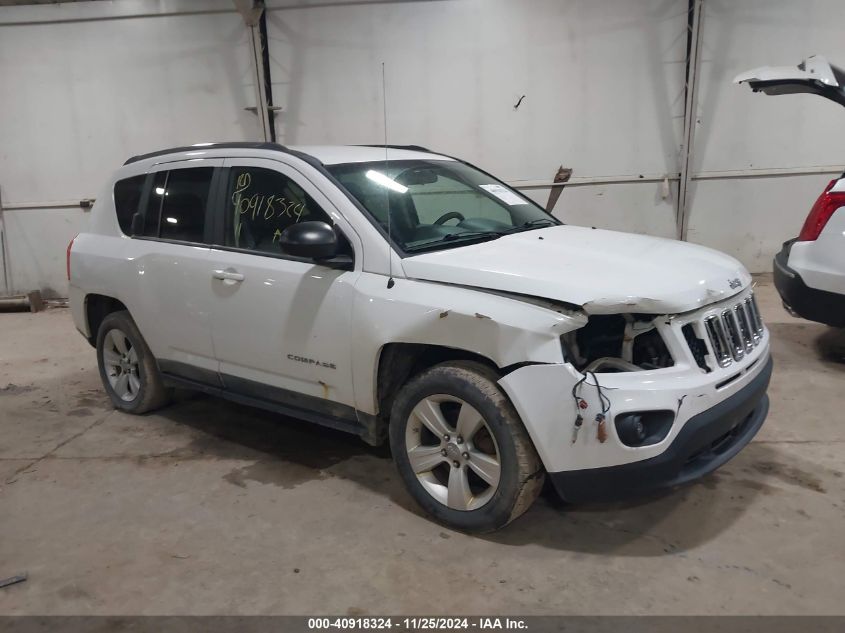
[[[184,10],[207,13],[153,17]],[[228,0],[0,8],[0,24],[31,20],[45,23],[0,26],[10,291],[66,296],[65,248],[87,216],[68,205],[131,155],[257,138],[249,40]]]

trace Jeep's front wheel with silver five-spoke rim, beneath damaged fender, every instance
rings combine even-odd
[[[466,532],[513,521],[545,478],[497,379],[481,363],[437,365],[405,385],[391,411],[393,459],[411,496],[435,520]]]

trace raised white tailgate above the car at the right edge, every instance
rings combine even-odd
[[[845,106],[845,73],[821,55],[808,57],[798,66],[763,66],[734,78],[754,92],[767,95],[815,94]]]

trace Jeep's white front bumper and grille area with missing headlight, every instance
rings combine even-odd
[[[499,382],[547,472],[657,458],[690,421],[697,430],[683,440],[684,459],[699,464],[706,454],[712,466],[719,460],[711,453],[739,450],[762,424],[771,363],[750,288],[682,313],[592,313],[585,320],[560,336],[565,362],[521,367]],[[744,404],[723,415],[727,401]],[[712,416],[720,421],[699,428]]]

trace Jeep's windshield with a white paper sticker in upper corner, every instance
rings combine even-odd
[[[459,161],[394,160],[327,169],[405,252],[454,248],[560,224],[528,198]]]

